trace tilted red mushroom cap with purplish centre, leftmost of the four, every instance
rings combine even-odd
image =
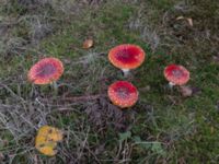
[[[48,84],[57,81],[64,73],[62,62],[57,58],[44,58],[28,71],[28,81],[34,84]]]

